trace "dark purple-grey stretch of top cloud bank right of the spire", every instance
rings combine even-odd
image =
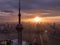
[[[60,8],[60,0],[21,0],[21,9]]]

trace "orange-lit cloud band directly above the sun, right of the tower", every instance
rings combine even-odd
[[[30,11],[22,11],[21,15],[24,18],[33,18],[35,16],[56,17],[56,16],[60,16],[60,11],[58,10],[30,10]]]

